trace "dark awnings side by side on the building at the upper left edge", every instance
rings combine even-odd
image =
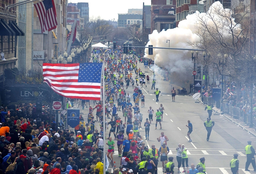
[[[9,25],[4,19],[0,19],[0,36],[24,36],[24,32],[18,27],[18,25],[9,20]]]

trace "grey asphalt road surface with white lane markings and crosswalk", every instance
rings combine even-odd
[[[143,64],[138,64],[144,72]],[[145,74],[149,74],[150,83],[152,82],[152,72],[149,71]],[[160,132],[164,131],[165,135],[168,137],[169,141],[167,146],[170,149],[169,156],[173,156],[175,163],[175,173],[177,173],[178,162],[176,161],[176,147],[178,144],[184,144],[187,148],[187,155],[189,160],[189,169],[190,164],[194,163],[195,165],[200,162],[201,157],[205,157],[205,166],[206,172],[210,173],[232,173],[229,167],[230,160],[233,158],[233,154],[237,153],[239,159],[239,173],[254,173],[253,168],[250,165],[249,169],[252,171],[247,172],[245,169],[246,155],[244,152],[244,147],[247,145],[247,141],[252,141],[252,146],[256,147],[255,137],[241,129],[238,125],[234,124],[232,121],[228,121],[225,117],[220,115],[212,115],[211,120],[215,122],[215,126],[211,132],[209,141],[206,141],[207,131],[203,125],[203,122],[206,121],[208,117],[207,111],[204,110],[205,105],[200,103],[195,103],[195,100],[191,96],[179,96],[175,98],[175,102],[171,102],[170,89],[171,85],[169,82],[162,81],[160,76],[156,74],[156,87],[164,93],[164,95],[159,96],[159,102],[156,102],[156,97],[153,94],[154,90],[151,90],[151,84],[147,87],[143,87],[142,91],[145,95],[145,108],[140,108],[140,112],[143,114],[143,123],[148,118],[148,109],[149,106],[152,106],[152,109],[156,111],[159,108],[160,104],[164,106],[164,115],[162,122],[162,130],[159,130],[160,126],[157,125],[158,129],[155,128],[155,115],[153,115],[153,122],[149,131],[149,140],[145,140],[145,129],[142,124],[142,128],[139,129],[140,135],[144,137],[146,145],[151,147],[151,144],[155,144],[156,147],[160,148],[160,142],[157,141],[157,137],[160,136]],[[126,90],[126,93],[133,93],[132,86]],[[176,91],[177,92],[177,91]],[[116,101],[115,101],[116,103]],[[117,104],[117,103],[116,103]],[[141,102],[140,102],[141,104]],[[140,105],[141,107],[141,105]],[[78,106],[81,108],[81,106]],[[88,108],[81,110],[85,115],[88,113]],[[96,114],[96,112],[94,113]],[[122,112],[118,111],[118,115],[122,117]],[[86,117],[85,117],[86,118]],[[187,120],[190,120],[193,125],[193,132],[190,135],[192,142],[187,142],[187,131],[186,127]],[[109,120],[110,121],[110,120]],[[99,129],[99,123],[96,123],[96,128]],[[108,131],[106,135],[108,135]],[[113,134],[111,134],[113,136]],[[116,142],[116,140],[114,140]],[[106,151],[107,152],[107,151]],[[118,157],[118,151],[115,147],[114,153],[115,166],[120,166],[121,158]],[[111,165],[110,167],[111,168]],[[181,172],[183,169],[180,169]],[[162,174],[162,164],[159,159],[158,163],[158,173]]]

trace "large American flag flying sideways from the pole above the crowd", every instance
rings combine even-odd
[[[56,93],[85,100],[100,100],[102,63],[43,63],[43,79]]]

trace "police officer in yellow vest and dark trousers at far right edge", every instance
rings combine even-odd
[[[245,149],[244,149],[247,156],[247,161],[245,163],[245,171],[250,171],[248,170],[248,167],[250,166],[251,163],[252,163],[253,170],[256,171],[255,158],[254,158],[254,155],[256,155],[255,150],[254,150],[254,147],[251,145],[252,141],[247,141],[247,142],[248,142],[248,145],[245,146]]]

